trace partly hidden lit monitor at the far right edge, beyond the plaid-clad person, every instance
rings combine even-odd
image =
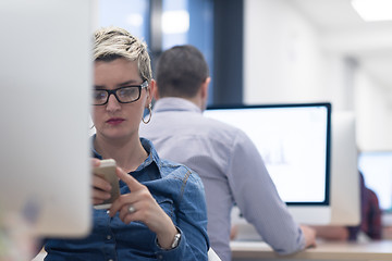
[[[392,151],[362,151],[358,169],[379,199],[383,225],[392,225]]]

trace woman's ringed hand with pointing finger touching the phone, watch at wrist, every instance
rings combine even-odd
[[[117,167],[117,175],[130,188],[130,194],[121,195],[111,206],[109,215],[117,212],[120,219],[128,224],[140,221],[157,234],[159,246],[170,249],[174,235],[177,233],[172,220],[157,203],[146,186],[137,182],[133,176]],[[130,211],[130,207],[131,211]]]

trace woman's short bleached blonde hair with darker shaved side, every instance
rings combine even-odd
[[[97,29],[94,34],[94,60],[110,62],[119,58],[136,61],[142,79],[151,80],[151,60],[145,42],[120,27]]]

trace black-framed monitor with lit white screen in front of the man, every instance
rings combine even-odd
[[[330,103],[210,107],[205,115],[249,136],[297,222],[330,222]]]

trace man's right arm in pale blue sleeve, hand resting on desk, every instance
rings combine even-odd
[[[274,251],[289,254],[314,246],[315,233],[301,228],[281,200],[257,148],[241,130],[233,140],[228,176],[244,217]]]

